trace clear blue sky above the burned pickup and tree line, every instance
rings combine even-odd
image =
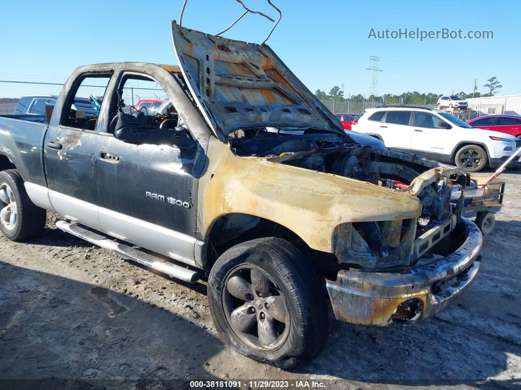
[[[244,0],[275,16],[265,0]],[[282,20],[268,41],[310,90],[326,92],[344,83],[345,95],[369,90],[370,55],[382,57],[379,91],[478,90],[496,76],[500,94],[521,93],[519,14],[521,2],[479,1],[458,6],[419,1],[274,0]],[[176,63],[170,21],[182,0],[6,1],[0,16],[0,79],[35,75],[64,80],[77,66],[98,62]],[[228,26],[241,13],[234,0],[189,0],[183,25],[209,33]],[[266,19],[247,15],[224,35],[262,42]],[[492,30],[492,40],[374,40],[371,28],[397,30]],[[25,77],[27,78],[27,77]],[[0,83],[1,89],[6,88]]]

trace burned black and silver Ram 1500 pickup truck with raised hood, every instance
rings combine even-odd
[[[6,237],[41,233],[51,210],[67,233],[207,279],[224,342],[283,368],[324,347],[328,298],[340,321],[390,326],[466,290],[481,247],[451,203],[466,174],[355,143],[265,44],[172,34],[180,67],[80,67],[48,124],[0,118]],[[128,111],[132,81],[168,99]],[[106,85],[99,116],[71,108],[85,84]]]

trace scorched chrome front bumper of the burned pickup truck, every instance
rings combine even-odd
[[[339,321],[390,326],[434,316],[450,306],[472,283],[479,269],[481,232],[462,218],[466,240],[452,254],[405,272],[340,271],[327,281]]]

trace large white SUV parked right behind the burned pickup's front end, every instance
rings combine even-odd
[[[521,147],[512,135],[475,129],[446,112],[423,107],[368,108],[351,127],[388,148],[455,162],[467,172],[499,166]]]

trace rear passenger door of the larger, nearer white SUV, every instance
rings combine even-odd
[[[411,151],[411,111],[390,110],[378,125],[378,134],[386,147]],[[376,129],[375,129],[376,130]]]

